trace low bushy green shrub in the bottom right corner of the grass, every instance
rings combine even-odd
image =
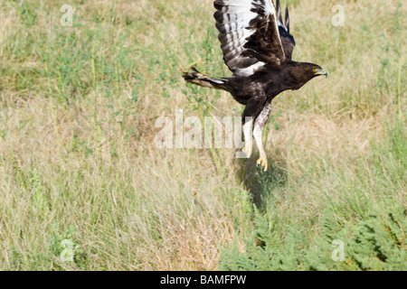
[[[278,219],[260,215],[255,231],[240,251],[237,242],[222,251],[222,270],[406,270],[407,211],[401,205],[382,205],[369,218],[334,233],[337,228],[325,212],[323,233],[308,244],[295,220],[281,234]],[[284,226],[284,225],[283,225]],[[344,244],[344,259],[334,261],[333,241]],[[307,247],[304,247],[308,244]]]

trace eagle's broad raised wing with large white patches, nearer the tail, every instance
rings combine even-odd
[[[272,0],[216,0],[223,59],[235,76],[251,76],[286,60]]]

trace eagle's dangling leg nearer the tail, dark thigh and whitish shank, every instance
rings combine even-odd
[[[247,158],[251,157],[251,153],[253,151],[253,120],[264,107],[264,101],[265,99],[262,98],[251,98],[244,108],[243,115],[241,116],[245,142],[242,152],[246,154]]]

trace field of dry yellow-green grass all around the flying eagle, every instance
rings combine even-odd
[[[212,3],[1,1],[0,270],[407,269],[407,6],[289,1],[294,60],[329,78],[273,100],[260,173],[154,142],[177,109],[241,115],[181,78],[231,75]]]

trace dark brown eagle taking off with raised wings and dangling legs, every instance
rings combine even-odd
[[[279,0],[216,0],[216,28],[223,61],[232,71],[231,78],[213,78],[192,68],[184,72],[188,82],[223,89],[241,105],[245,146],[251,157],[253,138],[260,152],[257,161],[268,170],[261,135],[268,122],[271,100],[285,90],[298,90],[309,80],[326,76],[327,71],[314,63],[292,61],[296,45],[289,30],[289,9],[282,20]]]

